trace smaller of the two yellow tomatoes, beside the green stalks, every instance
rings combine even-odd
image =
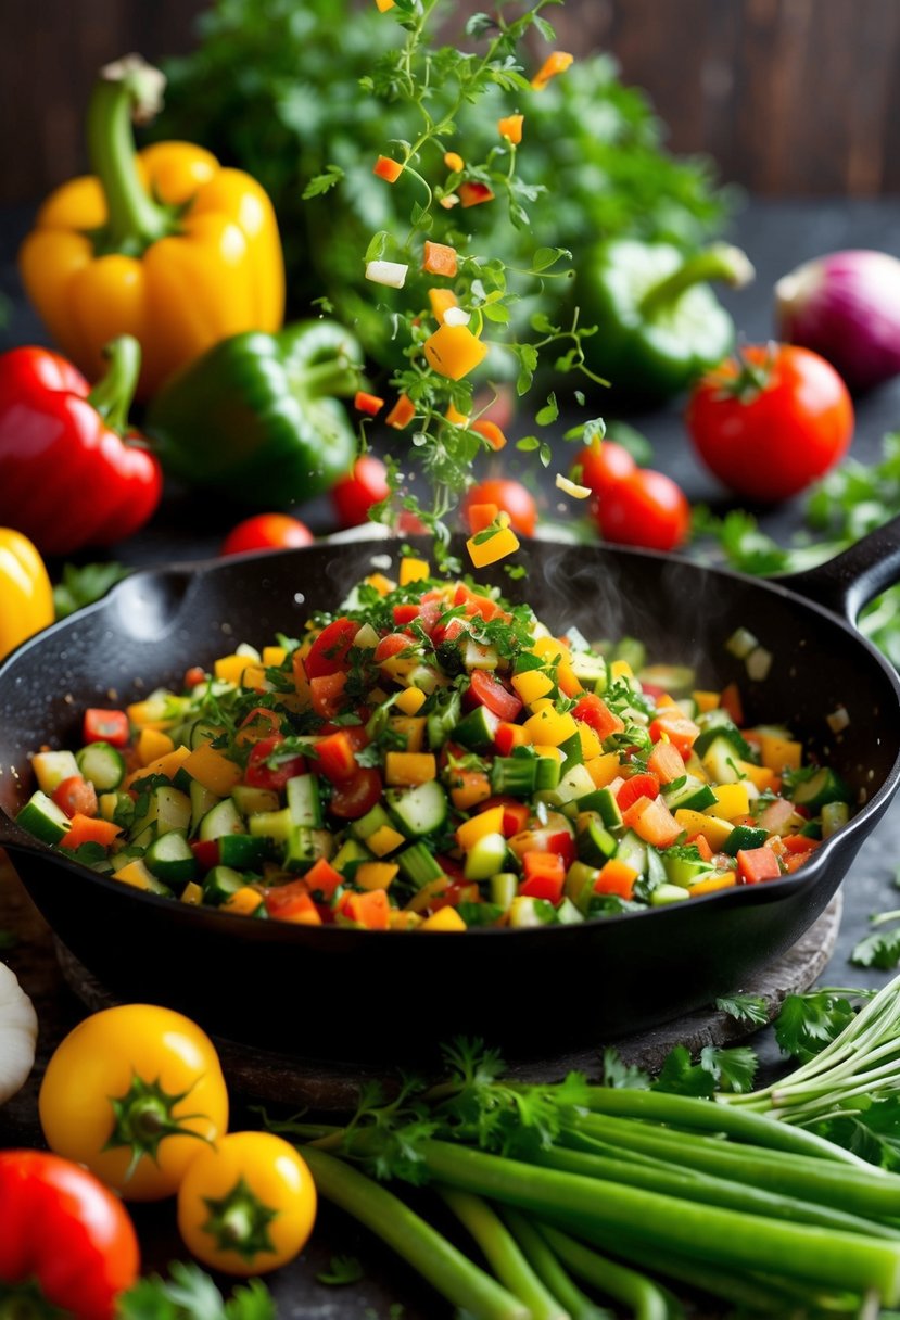
[[[272,1133],[231,1133],[205,1147],[178,1188],[178,1230],[203,1265],[265,1274],[293,1261],[313,1232],[315,1183]]]

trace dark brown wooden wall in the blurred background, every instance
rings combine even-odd
[[[132,49],[189,50],[202,8],[0,0],[0,203],[82,170],[94,70]],[[900,0],[566,0],[552,18],[563,49],[612,51],[673,149],[711,153],[726,180],[769,195],[900,193]]]

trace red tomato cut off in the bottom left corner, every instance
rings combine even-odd
[[[48,1302],[77,1320],[112,1320],[116,1296],[139,1271],[119,1197],[71,1160],[11,1150],[0,1151],[0,1282],[37,1279]]]

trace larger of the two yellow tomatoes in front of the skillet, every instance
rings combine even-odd
[[[48,1065],[38,1107],[50,1148],[132,1201],[172,1196],[228,1126],[210,1038],[179,1012],[143,1003],[79,1023]]]

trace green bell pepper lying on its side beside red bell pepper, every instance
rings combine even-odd
[[[358,341],[334,321],[232,335],[154,396],[145,432],[178,480],[286,508],[352,466],[356,436],[334,396],[359,388],[362,362]]]

